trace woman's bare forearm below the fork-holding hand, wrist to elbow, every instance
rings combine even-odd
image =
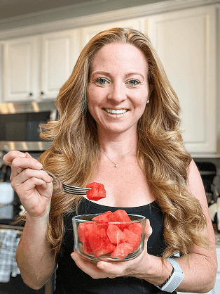
[[[47,222],[27,214],[25,228],[16,250],[16,261],[23,281],[35,290],[48,281],[55,270],[54,256],[46,238]]]

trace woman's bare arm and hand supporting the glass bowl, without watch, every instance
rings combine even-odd
[[[202,179],[193,161],[188,170],[188,189],[195,198],[200,200],[202,205],[203,212],[207,219],[207,228],[203,234],[209,238],[211,249],[204,249],[194,245],[193,252],[188,256],[188,260],[186,257],[177,257],[176,260],[179,262],[185,275],[177,290],[181,292],[207,293],[214,288],[216,281],[216,248],[214,231],[209,217]],[[146,226],[146,243],[149,236],[151,236],[151,226],[149,226],[148,223]],[[106,277],[114,278],[116,276],[135,276],[160,286],[170,276],[172,271],[170,262],[165,260],[164,265],[161,257],[156,257],[147,253],[146,246],[139,257],[128,262],[100,261],[97,263],[97,266],[95,266],[83,260],[77,253],[73,253],[71,257],[78,267],[94,279]]]

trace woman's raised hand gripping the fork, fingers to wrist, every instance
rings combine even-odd
[[[11,186],[29,217],[48,219],[53,178],[41,170],[41,163],[28,153],[10,151],[3,160],[11,166]]]

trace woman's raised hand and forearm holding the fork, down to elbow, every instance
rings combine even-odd
[[[4,156],[4,161],[11,165],[11,186],[27,211],[16,260],[25,283],[39,289],[55,269],[54,256],[46,238],[53,193],[52,178],[28,154],[11,151]]]

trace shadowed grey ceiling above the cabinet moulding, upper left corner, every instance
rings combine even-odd
[[[0,19],[69,5],[81,5],[94,0],[0,0]]]

